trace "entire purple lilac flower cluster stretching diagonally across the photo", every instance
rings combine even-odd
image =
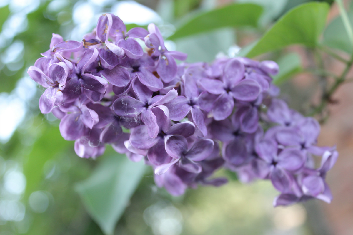
[[[46,88],[40,110],[61,119],[78,156],[96,158],[110,144],[152,166],[156,184],[172,195],[225,184],[211,177],[223,167],[241,181],[271,180],[281,192],[274,205],[331,201],[325,175],[337,151],[316,146],[318,122],[276,98],[275,62],[177,65],[186,54],[168,51],[154,24],[127,31],[113,14],[103,14],[83,42],[53,34],[42,56],[28,69]]]

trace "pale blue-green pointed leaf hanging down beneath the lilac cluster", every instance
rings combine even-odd
[[[143,162],[126,156],[104,156],[91,176],[77,184],[82,202],[104,234],[113,234],[116,223],[144,175]]]

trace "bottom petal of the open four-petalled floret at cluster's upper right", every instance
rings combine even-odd
[[[220,95],[213,104],[213,118],[216,121],[226,119],[234,108],[233,97],[227,93]]]

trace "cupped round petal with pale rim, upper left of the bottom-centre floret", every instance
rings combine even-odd
[[[164,138],[166,151],[169,156],[180,159],[180,157],[187,151],[187,141],[181,135],[168,135]]]

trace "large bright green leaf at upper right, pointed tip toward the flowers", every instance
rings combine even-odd
[[[325,2],[310,2],[294,8],[281,17],[246,56],[254,57],[292,44],[315,47],[328,11],[329,5]]]

